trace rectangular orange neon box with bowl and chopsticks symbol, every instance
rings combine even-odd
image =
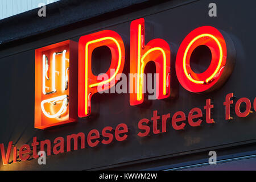
[[[35,128],[77,120],[77,46],[70,40],[35,50]]]

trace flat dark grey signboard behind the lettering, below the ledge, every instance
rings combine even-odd
[[[133,162],[140,159],[154,160],[156,157],[193,153],[209,148],[220,148],[229,144],[251,142],[256,139],[256,115],[246,118],[234,116],[233,121],[225,121],[224,106],[226,94],[233,92],[237,98],[255,98],[255,42],[256,42],[256,2],[214,1],[217,4],[217,17],[208,16],[208,5],[212,1],[196,1],[186,5],[174,6],[171,2],[165,6],[151,7],[146,10],[91,24],[55,36],[36,39],[13,47],[0,55],[1,63],[1,129],[0,142],[13,141],[16,146],[31,144],[33,137],[38,140],[66,137],[69,134],[88,132],[92,129],[101,131],[105,126],[116,127],[119,123],[129,126],[129,137],[124,142],[114,141],[107,146],[96,148],[86,146],[83,150],[65,152],[47,157],[47,165],[39,165],[32,159],[26,162],[1,166],[1,169],[93,169]],[[179,85],[177,100],[154,100],[145,108],[129,105],[129,94],[104,94],[98,104],[100,115],[94,119],[79,119],[77,123],[56,127],[49,130],[34,129],[34,68],[35,49],[55,42],[71,39],[78,41],[80,36],[100,30],[114,30],[121,35],[126,49],[124,72],[129,73],[130,23],[131,20],[144,18],[146,22],[146,43],[154,38],[161,38],[170,43],[176,51],[185,36],[200,26],[213,26],[225,31],[233,39],[236,47],[236,65],[232,75],[224,86],[209,94],[193,94]],[[9,53],[10,52],[10,53]],[[13,52],[13,53],[12,53]],[[8,55],[9,54],[9,55]],[[174,64],[175,60],[171,60]],[[104,70],[104,64],[100,69]],[[147,138],[137,136],[137,123],[142,118],[150,119],[152,112],[159,114],[181,110],[188,114],[193,107],[203,110],[205,100],[211,98],[214,104],[213,118],[216,123],[205,123],[200,127],[188,125],[184,131],[175,131],[167,122],[165,134]],[[94,98],[92,104],[95,106]],[[1,164],[2,165],[2,164]]]

